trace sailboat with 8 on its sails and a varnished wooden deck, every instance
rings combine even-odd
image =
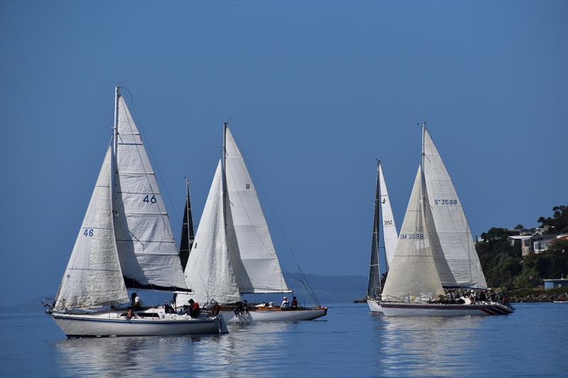
[[[288,294],[256,189],[243,156],[224,124],[223,157],[217,164],[195,241],[185,267],[192,294],[178,294],[181,306],[192,298],[216,302],[229,320],[244,294]],[[249,305],[246,321],[312,320],[327,308]],[[233,318],[232,321],[243,319]]]

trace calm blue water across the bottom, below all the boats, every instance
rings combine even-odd
[[[2,314],[0,376],[566,377],[568,304],[515,307],[512,316],[386,318],[344,304],[325,320],[222,336],[76,340],[47,315]]]

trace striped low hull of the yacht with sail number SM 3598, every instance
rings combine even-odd
[[[386,316],[488,316],[508,315],[515,311],[503,304],[413,304],[381,302]]]

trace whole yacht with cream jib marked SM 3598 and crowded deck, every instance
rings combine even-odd
[[[381,309],[386,316],[514,311],[491,301],[447,304],[444,287],[486,289],[487,284],[452,179],[422,124],[422,160],[381,293]]]

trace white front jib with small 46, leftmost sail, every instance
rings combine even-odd
[[[109,148],[55,299],[56,310],[129,302],[114,241],[110,166]]]

